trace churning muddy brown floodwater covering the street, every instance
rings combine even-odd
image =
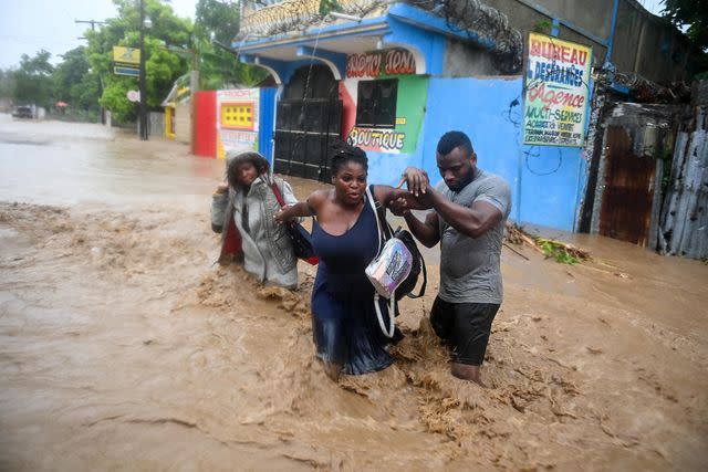
[[[481,389],[431,334],[429,251],[396,364],[333,384],[312,268],[288,292],[212,264],[221,172],[0,115],[0,470],[708,470],[705,263],[556,233],[593,261],[504,249]]]

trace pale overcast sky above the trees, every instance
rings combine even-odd
[[[660,11],[660,0],[638,0],[653,13]],[[178,17],[195,17],[197,0],[171,0]],[[74,20],[114,18],[111,0],[0,0],[0,67],[14,67],[20,56],[34,55],[45,49],[52,53],[52,62],[61,62],[63,54],[85,41],[83,35],[88,24]]]

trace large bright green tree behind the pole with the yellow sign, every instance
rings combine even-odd
[[[159,0],[144,0],[147,105],[159,109],[177,77],[187,72],[187,60],[169,51],[169,46],[185,48],[191,35],[191,21],[175,15],[169,4]],[[137,104],[127,99],[127,92],[138,90],[137,77],[116,75],[113,71],[113,46],[139,48],[139,10],[135,0],[114,0],[117,17],[106,20],[101,29],[86,31],[88,62],[104,81],[101,104],[119,122],[135,119]]]

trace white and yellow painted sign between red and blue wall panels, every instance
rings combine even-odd
[[[217,91],[217,153],[258,150],[259,88]]]

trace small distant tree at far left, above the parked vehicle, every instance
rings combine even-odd
[[[13,71],[15,103],[34,103],[49,107],[52,102],[52,77],[54,67],[49,62],[52,54],[45,50],[39,51],[33,57],[22,54],[20,67]]]

